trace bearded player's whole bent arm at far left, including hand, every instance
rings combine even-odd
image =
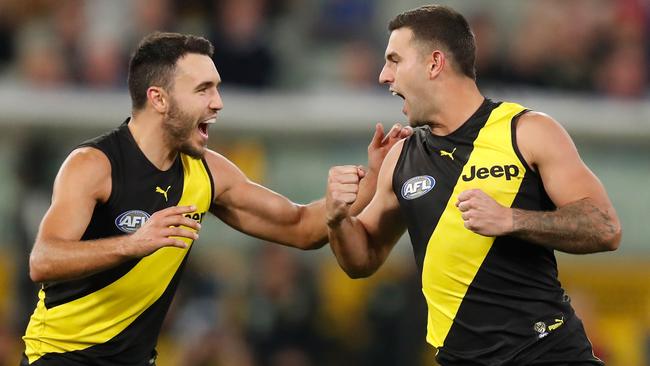
[[[63,163],[29,258],[33,281],[85,277],[162,246],[186,246],[169,236],[196,238],[195,232],[169,227],[182,224],[198,229],[194,220],[182,217],[182,213],[191,212],[189,208],[171,207],[155,213],[132,235],[81,241],[95,206],[110,195],[110,176],[108,159],[93,148],[77,149]]]

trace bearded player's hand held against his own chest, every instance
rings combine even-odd
[[[128,236],[122,252],[128,257],[140,258],[162,247],[187,248],[179,237],[196,240],[199,237],[196,231],[201,228],[196,220],[184,216],[194,211],[194,206],[173,206],[154,213],[141,228]]]

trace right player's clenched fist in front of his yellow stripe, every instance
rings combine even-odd
[[[512,209],[501,206],[480,189],[458,195],[456,207],[462,212],[465,227],[483,236],[501,236],[512,232]]]

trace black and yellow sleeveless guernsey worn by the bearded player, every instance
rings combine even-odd
[[[197,221],[208,211],[213,183],[205,160],[179,154],[160,171],[138,148],[128,120],[81,146],[101,150],[112,169],[110,198],[95,207],[82,240],[128,235],[170,206],[195,205],[188,216]],[[188,252],[162,248],[85,278],[44,284],[23,337],[29,364],[153,364]]]

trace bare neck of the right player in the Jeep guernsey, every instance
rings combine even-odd
[[[447,80],[444,90],[434,97],[436,107],[431,116],[431,132],[445,136],[462,126],[483,104],[485,97],[470,78]]]

